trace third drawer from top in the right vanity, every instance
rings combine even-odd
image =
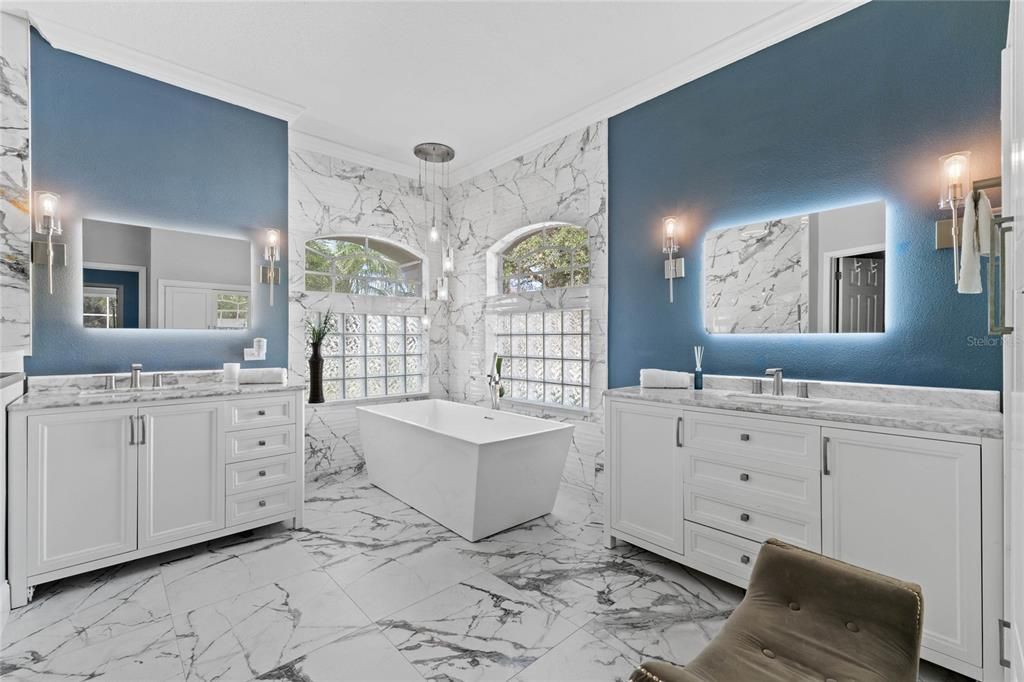
[[[726,495],[686,483],[683,485],[683,516],[687,521],[759,543],[777,538],[791,545],[821,551],[820,510],[800,512],[765,504],[755,496]]]

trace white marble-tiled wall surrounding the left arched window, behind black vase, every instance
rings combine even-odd
[[[288,367],[293,380],[305,380],[308,374],[304,328],[307,315],[328,308],[335,312],[423,313],[422,298],[306,292],[305,243],[334,235],[388,240],[424,255],[428,275],[432,278],[430,273],[440,268],[440,246],[431,244],[427,237],[428,208],[414,178],[317,152],[291,148]],[[447,397],[447,308],[436,301],[427,305],[432,318],[427,346],[429,395]],[[307,476],[362,466],[355,404],[347,401],[306,406]]]

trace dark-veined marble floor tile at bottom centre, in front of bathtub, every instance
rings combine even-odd
[[[507,680],[577,630],[485,572],[378,625],[423,677],[444,680]]]

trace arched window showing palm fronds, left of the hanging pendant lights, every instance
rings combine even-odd
[[[366,296],[420,296],[423,260],[369,237],[322,237],[306,242],[306,291]]]

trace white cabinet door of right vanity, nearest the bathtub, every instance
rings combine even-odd
[[[683,413],[609,402],[611,527],[683,553]]]

